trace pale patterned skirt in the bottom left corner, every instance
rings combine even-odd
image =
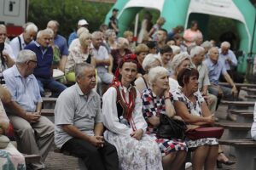
[[[5,149],[0,150],[0,169],[26,170],[24,156],[11,143]]]

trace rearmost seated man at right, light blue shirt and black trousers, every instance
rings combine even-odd
[[[225,66],[230,77],[234,82],[243,82],[244,77],[236,72],[237,59],[233,51],[230,50],[230,42],[222,42],[220,48],[218,49],[219,60]],[[224,81],[224,77],[220,78],[221,81]]]

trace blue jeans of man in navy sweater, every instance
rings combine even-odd
[[[51,97],[53,98],[57,98],[61,94],[61,92],[67,88],[64,84],[55,81],[55,79],[52,77],[47,79],[37,77],[37,80],[40,89],[40,94],[42,97],[45,96],[44,88],[48,88],[51,91]]]

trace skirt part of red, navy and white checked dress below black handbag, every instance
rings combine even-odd
[[[167,156],[178,150],[188,151],[187,144],[182,139],[157,139],[155,133],[150,133],[149,135],[154,138],[158,144],[162,156]]]

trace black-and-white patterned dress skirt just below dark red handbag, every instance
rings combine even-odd
[[[218,139],[216,138],[206,138],[206,139],[197,139],[197,140],[186,139],[185,142],[188,148],[196,148],[203,145],[216,145],[218,144]]]

